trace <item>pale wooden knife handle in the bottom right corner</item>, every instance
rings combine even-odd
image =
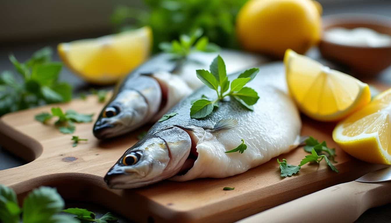
[[[238,221],[258,222],[354,222],[371,207],[391,202],[391,182],[348,182],[328,187]]]

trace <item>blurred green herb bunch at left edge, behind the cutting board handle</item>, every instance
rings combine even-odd
[[[68,102],[72,98],[72,87],[58,81],[62,64],[52,62],[52,50],[43,48],[35,52],[26,62],[9,56],[19,76],[11,71],[0,75],[0,116],[13,111],[36,107],[48,103]]]

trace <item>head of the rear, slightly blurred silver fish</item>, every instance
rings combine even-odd
[[[98,139],[106,139],[135,130],[145,123],[148,112],[143,95],[135,90],[122,91],[102,109],[93,134]]]

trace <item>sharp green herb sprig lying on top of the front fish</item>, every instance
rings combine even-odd
[[[259,99],[258,93],[250,87],[244,87],[249,81],[253,80],[259,72],[258,68],[251,68],[244,71],[238,78],[230,81],[227,77],[225,63],[218,55],[210,64],[210,72],[207,70],[197,70],[197,77],[209,88],[217,93],[217,98],[213,101],[207,98],[201,98],[192,103],[190,108],[190,117],[201,119],[212,113],[213,108],[218,107],[218,102],[224,97],[230,96],[233,100],[239,102],[243,107],[253,111],[253,106]],[[231,87],[230,91],[228,89]],[[228,91],[228,92],[227,92]]]

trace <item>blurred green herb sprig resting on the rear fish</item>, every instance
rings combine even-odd
[[[172,54],[175,59],[184,59],[194,50],[201,52],[217,52],[220,50],[219,46],[209,43],[208,37],[201,37],[202,34],[203,30],[197,29],[190,36],[182,34],[179,36],[179,41],[175,39],[171,43],[162,42],[159,44],[159,48],[163,52]]]

